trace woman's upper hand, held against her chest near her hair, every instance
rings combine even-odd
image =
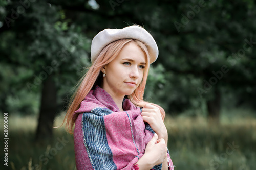
[[[150,124],[151,128],[158,134],[158,139],[163,138],[167,143],[167,129],[163,123],[161,112],[158,107],[146,104],[141,112],[142,119]]]

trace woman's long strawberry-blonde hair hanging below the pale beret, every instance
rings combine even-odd
[[[135,89],[134,92],[128,95],[127,97],[135,106],[138,106],[138,107],[143,107],[148,103],[143,101],[148,69],[150,67],[150,55],[148,54],[145,44],[135,39],[121,39],[121,40],[114,41],[103,48],[99,56],[96,58],[92,66],[87,71],[87,73],[83,75],[83,77],[80,79],[80,81],[76,85],[77,89],[70,100],[68,111],[63,120],[63,123],[65,123],[66,121],[65,127],[70,134],[73,134],[73,126],[75,124],[73,120],[74,112],[79,109],[80,103],[89,93],[89,91],[94,86],[96,85],[100,86],[100,83],[102,83],[102,75],[100,74],[101,68],[104,67],[106,64],[110,63],[111,61],[113,61],[120,53],[123,46],[131,42],[134,42],[135,44],[137,44],[144,52],[146,56],[146,66],[145,66],[143,79],[141,83],[139,84],[137,89]],[[156,104],[153,104],[153,105],[157,106],[160,109],[162,119],[164,119],[165,112],[163,108]]]

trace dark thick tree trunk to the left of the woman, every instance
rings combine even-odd
[[[53,76],[49,75],[43,82],[41,106],[36,131],[36,141],[51,139],[53,134],[53,120],[57,111],[57,89]]]

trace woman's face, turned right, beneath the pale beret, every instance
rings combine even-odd
[[[139,86],[146,65],[146,56],[134,42],[126,44],[119,55],[102,68],[103,89],[112,98],[123,99]]]

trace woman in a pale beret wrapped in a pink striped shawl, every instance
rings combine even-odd
[[[65,116],[77,169],[173,169],[164,110],[143,101],[153,37],[140,26],[105,29],[92,40],[92,66]]]

